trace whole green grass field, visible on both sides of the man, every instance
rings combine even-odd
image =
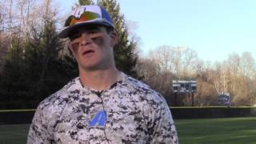
[[[180,144],[255,144],[256,117],[175,121]],[[30,125],[0,125],[1,144],[26,143]]]

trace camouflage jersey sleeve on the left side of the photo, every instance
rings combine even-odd
[[[30,125],[29,134],[27,137],[27,144],[50,144],[53,142],[52,129],[46,120],[46,110],[40,106],[34,114],[34,118]]]

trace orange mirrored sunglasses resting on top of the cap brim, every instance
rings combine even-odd
[[[101,16],[97,13],[85,11],[80,15],[79,18],[76,18],[74,15],[71,15],[69,18],[66,19],[64,26],[73,26],[78,22],[87,22],[97,18],[101,18]]]

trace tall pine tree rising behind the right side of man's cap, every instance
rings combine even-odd
[[[106,8],[113,19],[115,30],[118,33],[118,44],[114,46],[114,59],[119,70],[137,78],[134,66],[137,62],[135,54],[137,43],[129,41],[128,27],[124,15],[120,13],[120,6],[116,0],[101,0],[98,5]]]

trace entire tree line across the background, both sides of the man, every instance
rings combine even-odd
[[[159,46],[142,58],[138,38],[129,38],[116,0],[79,0],[75,6],[85,4],[110,11],[118,32],[118,45],[114,46],[118,69],[158,90],[170,105],[190,105],[186,94],[174,103],[175,79],[197,81],[196,106],[214,105],[223,91],[230,93],[234,106],[255,103],[255,61],[250,52],[230,54],[224,62],[213,64],[203,62],[189,48]],[[67,48],[69,40],[58,38],[66,18],[60,12],[54,0],[0,1],[0,109],[34,109],[78,76],[77,63]]]

